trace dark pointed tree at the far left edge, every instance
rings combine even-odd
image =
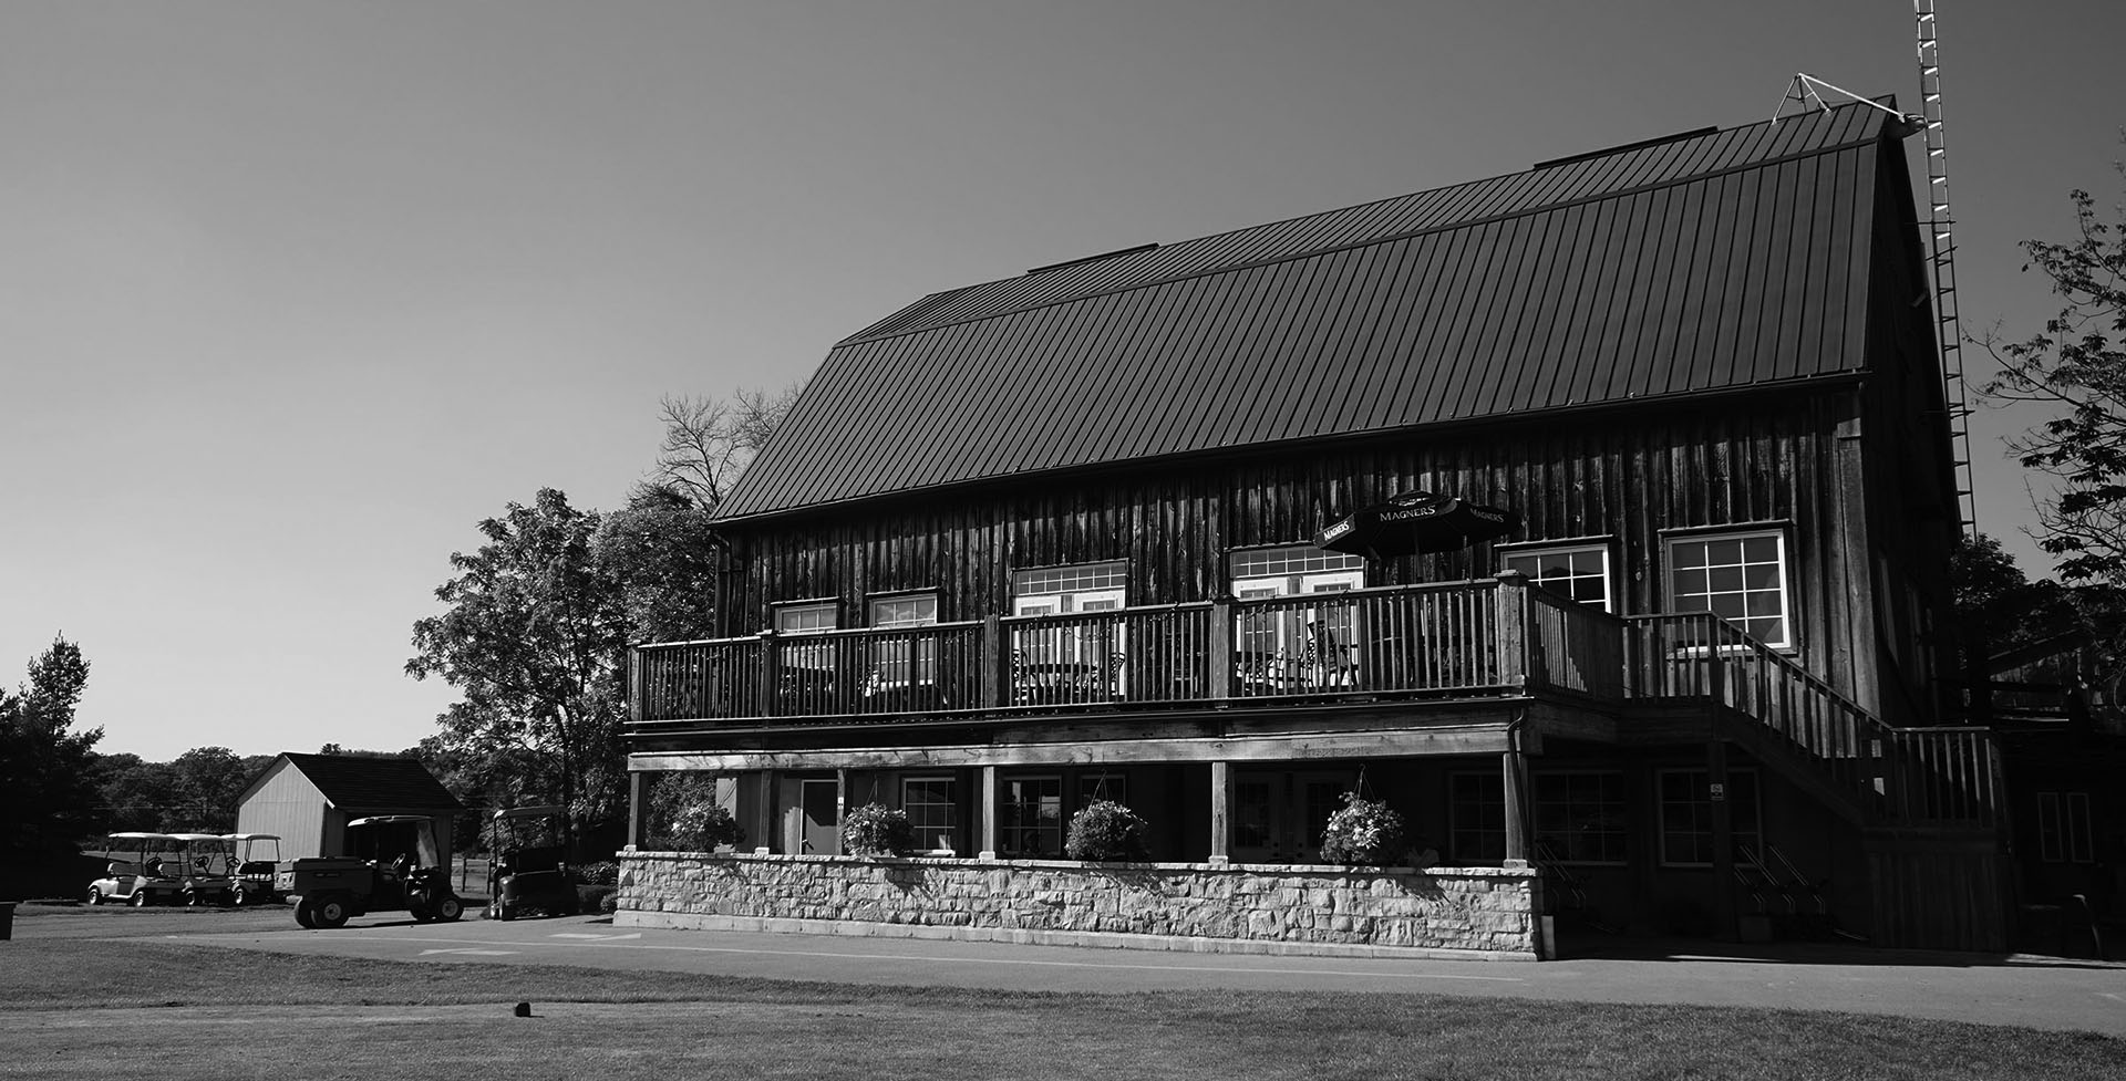
[[[53,637],[30,682],[0,690],[0,858],[45,858],[100,826],[94,784],[102,728],[74,728],[89,684],[81,646]]]

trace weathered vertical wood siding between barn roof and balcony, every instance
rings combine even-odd
[[[1305,544],[1354,508],[1429,488],[1518,510],[1514,542],[1614,537],[1622,614],[1667,610],[1663,531],[1786,522],[1803,663],[1873,705],[1875,665],[1856,663],[1875,650],[1858,410],[1850,384],[1758,391],[789,516],[733,535],[723,631],[759,631],[770,603],[795,599],[838,599],[842,627],[861,627],[865,597],[897,590],[938,590],[940,620],[974,620],[1008,612],[1014,569],[1097,561],[1129,563],[1131,605],[1203,601],[1225,588],[1229,550]],[[1497,569],[1486,544],[1393,561],[1367,584]]]

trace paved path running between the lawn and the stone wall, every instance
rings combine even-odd
[[[631,930],[610,917],[164,934],[172,941],[427,964],[572,964],[829,983],[1040,992],[1399,992],[1890,1013],[2126,1036],[2126,964],[1845,945],[1565,943],[1567,960],[1167,954],[725,930]],[[1575,949],[1577,947],[1577,949]],[[1577,956],[1573,956],[1577,954]]]

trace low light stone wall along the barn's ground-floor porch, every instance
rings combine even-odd
[[[1533,960],[1529,869],[623,852],[621,926]],[[1307,949],[1318,947],[1318,949]]]

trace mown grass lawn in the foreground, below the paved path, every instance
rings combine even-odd
[[[2126,1077],[2126,1041],[1899,1017],[400,964],[83,934],[98,924],[157,926],[0,943],[0,1077]]]

